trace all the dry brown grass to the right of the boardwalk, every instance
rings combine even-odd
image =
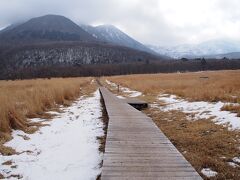
[[[162,111],[156,107],[156,104],[159,107],[165,106],[158,100],[159,94],[169,94],[189,102],[232,103],[234,105],[225,105],[222,110],[235,112],[239,116],[239,70],[112,76],[101,79],[114,93],[127,96],[107,84],[106,80],[143,93],[139,98],[150,104],[144,112],[204,179],[240,179],[240,163],[233,161],[234,157],[240,155],[239,129],[233,130],[227,125],[217,124],[213,121],[214,117],[189,120],[189,116],[194,117],[194,114],[180,110]],[[203,168],[210,168],[218,174],[206,177],[201,172]]]

